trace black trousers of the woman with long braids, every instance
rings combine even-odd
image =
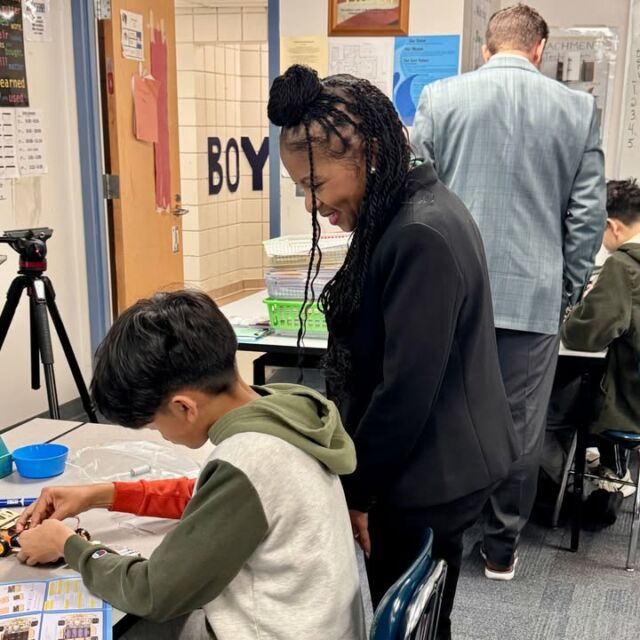
[[[426,529],[430,527],[433,529],[433,557],[447,562],[437,637],[438,640],[450,638],[451,609],[462,563],[462,535],[482,513],[491,491],[492,487],[489,487],[453,502],[422,509],[374,507],[369,512],[371,558],[367,561],[374,608],[418,557]]]

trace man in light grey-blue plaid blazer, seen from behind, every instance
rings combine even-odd
[[[412,132],[418,154],[471,211],[487,253],[521,447],[485,509],[485,575],[500,580],[514,576],[535,499],[561,315],[581,295],[606,219],[595,100],[540,73],[548,34],[526,5],[498,11],[486,64],[428,85]]]

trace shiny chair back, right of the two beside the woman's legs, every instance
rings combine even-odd
[[[433,562],[407,607],[401,640],[433,640],[436,637],[446,577],[447,563],[444,560]]]

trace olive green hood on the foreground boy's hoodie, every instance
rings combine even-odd
[[[355,471],[355,447],[333,402],[295,384],[254,389],[261,398],[230,411],[211,427],[213,444],[238,433],[266,433],[298,447],[337,475]]]

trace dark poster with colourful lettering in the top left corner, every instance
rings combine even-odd
[[[0,11],[0,107],[28,107],[21,0],[2,0]]]

